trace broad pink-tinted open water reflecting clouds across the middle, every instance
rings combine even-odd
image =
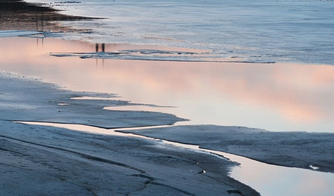
[[[169,48],[105,44],[107,52],[127,49]],[[0,69],[41,77],[71,90],[106,92],[134,103],[173,106],[154,109],[191,119],[188,124],[334,132],[333,66],[49,56],[95,51],[95,44],[81,41],[0,39]]]

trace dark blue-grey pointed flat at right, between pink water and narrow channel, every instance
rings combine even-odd
[[[317,171],[334,173],[333,133],[269,132],[215,125],[120,132],[200,145],[200,148],[223,151],[274,165],[311,170],[312,167],[318,167]]]

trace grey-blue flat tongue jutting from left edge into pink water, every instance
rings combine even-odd
[[[24,77],[24,78],[23,78]],[[75,97],[113,97],[110,94],[73,92],[38,78],[0,71],[0,119],[85,124],[121,128],[173,124],[185,119],[158,112],[112,111],[105,106],[132,105],[117,100],[80,100]],[[58,105],[67,103],[69,105]]]

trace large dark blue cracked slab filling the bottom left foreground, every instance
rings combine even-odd
[[[227,176],[233,162],[140,138],[0,120],[0,155],[6,196],[259,195]]]

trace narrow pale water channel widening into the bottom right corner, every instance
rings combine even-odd
[[[234,167],[230,176],[234,179],[252,187],[262,196],[331,196],[334,193],[334,174],[317,172],[312,170],[289,168],[283,166],[270,165],[255,161],[246,157],[236,156],[220,151],[200,149],[197,145],[182,144],[166,140],[159,140],[151,137],[143,137],[134,134],[125,134],[117,131],[130,129],[147,129],[153,127],[135,127],[123,129],[103,129],[87,125],[59,124],[45,122],[20,122],[26,124],[36,124],[44,126],[55,126],[75,131],[83,131],[95,134],[114,135],[123,137],[140,137],[153,139],[160,145],[174,145],[180,148],[189,149],[199,153],[207,153],[221,158],[228,158],[231,161],[240,163]]]

